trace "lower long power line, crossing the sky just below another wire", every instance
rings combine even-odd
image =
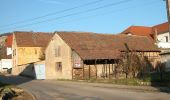
[[[35,22],[35,23],[30,23],[30,24],[25,24],[25,25],[13,27],[13,28],[26,27],[26,26],[30,26],[30,25],[39,24],[39,23],[44,23],[44,22],[49,22],[49,21],[53,21],[53,20],[58,20],[58,19],[62,19],[62,18],[65,18],[65,17],[75,16],[75,15],[79,15],[79,14],[82,14],[82,13],[92,12],[92,11],[96,11],[96,10],[103,9],[103,8],[106,8],[106,7],[111,7],[111,6],[127,3],[127,2],[130,2],[130,1],[133,1],[133,0],[122,0],[122,1],[119,1],[119,2],[114,2],[114,3],[111,3],[111,4],[106,4],[104,6],[87,9],[85,11],[79,11],[79,12],[76,12],[76,13],[67,14],[67,15],[64,15],[64,16],[57,17],[57,18],[47,19],[47,20],[43,20],[43,21],[39,21],[39,22]],[[6,28],[6,29],[11,29],[11,28]]]

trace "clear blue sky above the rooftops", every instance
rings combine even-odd
[[[167,21],[163,0],[0,0],[0,34],[13,31],[119,33]]]

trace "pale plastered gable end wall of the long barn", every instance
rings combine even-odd
[[[60,56],[56,56],[57,48]],[[46,78],[47,79],[72,79],[71,48],[55,34],[46,48]],[[62,63],[62,71],[58,71],[56,63]]]

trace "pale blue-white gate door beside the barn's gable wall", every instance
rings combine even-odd
[[[45,79],[45,64],[35,65],[36,79]]]

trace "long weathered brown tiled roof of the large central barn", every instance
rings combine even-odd
[[[153,42],[143,36],[96,34],[89,32],[57,32],[83,59],[115,59],[130,50],[159,51]]]

